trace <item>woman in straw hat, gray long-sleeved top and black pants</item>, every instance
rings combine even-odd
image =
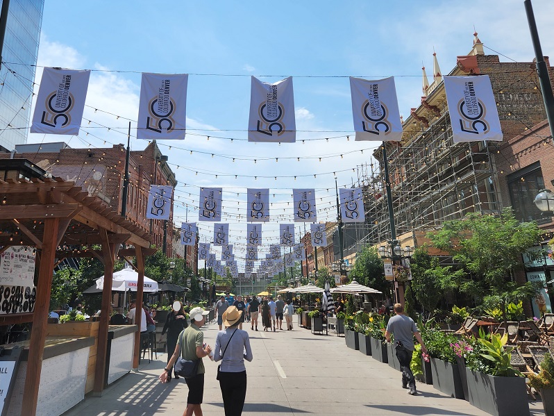
[[[223,314],[223,324],[226,328],[217,333],[215,340],[214,360],[221,360],[219,387],[225,416],[242,415],[246,397],[244,359],[251,361],[253,358],[248,333],[238,328],[243,312],[236,306],[229,306]]]

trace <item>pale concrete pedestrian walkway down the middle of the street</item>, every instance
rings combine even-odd
[[[400,374],[360,351],[346,347],[336,335],[314,335],[296,326],[294,331],[249,331],[254,359],[246,362],[248,391],[244,415],[487,415],[467,401],[453,399],[432,385],[418,383],[417,396],[401,388]],[[262,327],[258,327],[262,329]],[[204,339],[212,347],[217,323],[204,326]],[[137,373],[114,383],[103,397],[89,397],[65,416],[181,416],[187,385],[181,378],[161,384],[158,376],[167,356],[142,362]],[[224,414],[217,364],[204,358],[206,369],[205,416]],[[40,406],[40,404],[39,404]],[[530,405],[532,415],[544,415],[542,403]]]

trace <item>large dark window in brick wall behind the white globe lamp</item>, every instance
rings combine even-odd
[[[521,222],[541,222],[541,211],[535,206],[533,200],[544,189],[544,180],[539,162],[520,169],[507,176],[510,200],[516,218]]]

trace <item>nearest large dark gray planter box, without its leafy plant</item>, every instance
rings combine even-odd
[[[466,367],[469,403],[495,416],[529,415],[525,378],[496,377]]]

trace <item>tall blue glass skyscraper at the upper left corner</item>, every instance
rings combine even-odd
[[[43,8],[44,0],[10,0],[0,70],[0,146],[8,150],[27,142]]]

